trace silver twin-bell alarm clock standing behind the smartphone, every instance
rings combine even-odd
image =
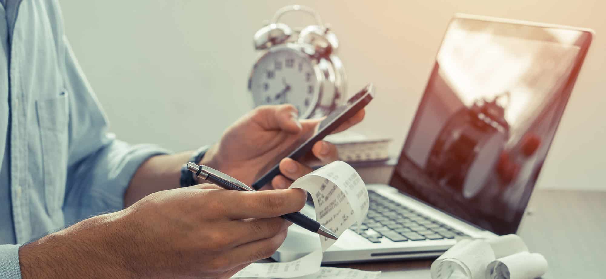
[[[290,28],[279,22],[290,11],[313,15],[316,25]],[[299,118],[315,118],[346,100],[345,72],[335,55],[339,42],[316,11],[301,5],[279,9],[255,33],[254,43],[262,51],[248,79],[255,106],[290,103]]]

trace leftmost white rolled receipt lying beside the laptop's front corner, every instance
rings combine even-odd
[[[494,252],[484,240],[461,240],[431,264],[433,279],[484,279]]]

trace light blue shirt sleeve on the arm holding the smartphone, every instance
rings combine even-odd
[[[70,117],[63,210],[70,224],[124,208],[124,192],[139,166],[168,151],[153,144],[127,144],[107,132],[107,117],[65,37],[64,44]]]

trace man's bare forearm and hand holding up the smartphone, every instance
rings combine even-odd
[[[351,117],[335,132],[341,132],[364,118],[364,110]],[[275,164],[280,172],[263,189],[288,188],[295,179],[311,172],[311,165],[328,164],[338,158],[336,147],[318,141],[311,152],[298,161],[285,158],[316,129],[322,119],[297,120],[297,111],[290,104],[261,106],[228,127],[221,141],[215,144],[199,164],[208,165],[251,185]],[[179,187],[181,166],[191,152],[153,156],[138,168],[124,193],[124,207],[148,194]],[[282,161],[275,161],[276,159]],[[204,181],[199,181],[204,183]]]

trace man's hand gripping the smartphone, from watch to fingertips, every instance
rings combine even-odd
[[[359,123],[364,110],[347,120],[335,132],[341,132]],[[253,184],[273,165],[276,158],[284,158],[305,139],[313,135],[320,119],[298,121],[298,112],[290,104],[260,106],[230,126],[218,144],[213,146],[200,164],[221,170],[230,176]],[[338,159],[336,147],[327,141],[318,141],[311,153],[295,161],[284,158],[280,172],[270,185],[263,189],[288,188],[295,179],[311,172],[310,165],[327,164]]]

